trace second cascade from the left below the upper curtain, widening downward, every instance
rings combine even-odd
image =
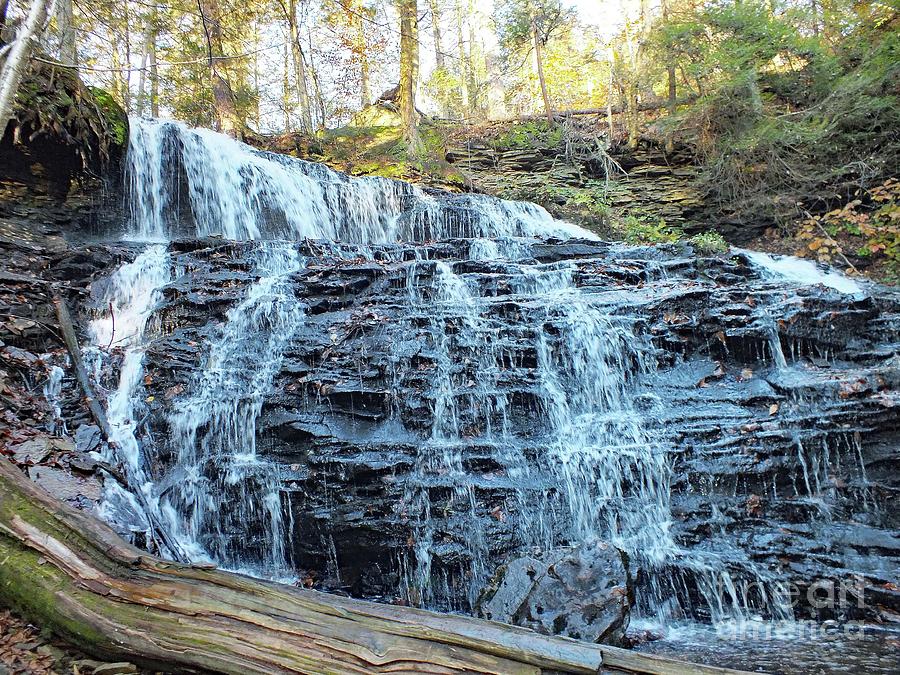
[[[178,456],[160,481],[169,526],[192,557],[290,576],[277,468],[256,451],[256,421],[281,356],[303,320],[289,244],[257,250],[259,279],[209,345],[191,392],[169,420]]]

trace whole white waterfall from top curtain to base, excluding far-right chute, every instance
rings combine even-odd
[[[378,244],[459,237],[469,240],[468,259],[459,264],[429,260],[424,245],[407,250],[415,260],[403,252],[391,259],[405,266],[409,312],[401,330],[416,345],[409,353],[398,350],[391,367],[397,382],[421,371],[430,420],[402,430],[416,445],[398,505],[414,539],[401,561],[406,600],[471,606],[497,554],[479,525],[482,496],[503,485],[515,495],[508,506],[518,512],[519,546],[615,543],[650,577],[641,603],[648,612],[678,610],[665,600],[684,583],[670,574],[678,567],[690,573],[713,618],[760,608],[779,615],[773,598],[751,604],[735,588],[732,572],[756,580],[765,575],[746,556],[687,551],[673,538],[671,439],[655,419],[652,397],[639,397],[657,360],[646,327],[620,311],[615,291],[579,286],[573,264],[531,257],[538,239],[593,238],[589,233],[534,205],[436,197],[397,181],[349,178],[169,122],[133,121],[127,184],[127,238],[157,243],[113,275],[101,300],[112,311],[96,323],[94,344],[99,351],[125,348],[110,420],[130,482],[141,490],[137,506],[152,511],[181,554],[268,577],[295,572],[284,469],[257,444],[285,354],[311,320],[312,310],[297,296],[297,275],[309,271],[299,242],[356,244],[352,252],[315,245],[351,265],[375,260]],[[170,433],[161,443],[173,459],[151,481],[140,443],[150,442],[140,433],[144,332],[148,317],[165,304],[162,289],[173,281],[172,270],[181,273],[165,243],[180,236],[262,241],[244,261],[249,286],[222,325],[207,331],[198,368],[170,406]],[[472,269],[494,280],[490,292],[468,282]],[[654,273],[664,276],[665,269]],[[506,393],[514,369],[529,372],[522,385],[529,402]],[[398,388],[393,395],[404,393]],[[510,411],[522,406],[530,406],[530,419],[517,428]],[[400,429],[396,400],[393,408],[391,428]],[[489,478],[464,459],[462,450],[472,447],[496,467]],[[814,482],[815,469],[812,476]],[[441,492],[451,494],[452,531],[436,524],[433,497]],[[438,555],[451,547],[456,568],[438,569],[434,560],[453,557]],[[333,539],[328,548],[322,555],[336,568]]]

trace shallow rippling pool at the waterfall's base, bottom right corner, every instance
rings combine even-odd
[[[900,673],[900,627],[742,621],[663,630],[632,625],[629,633],[662,634],[636,651],[737,670],[783,675]]]

